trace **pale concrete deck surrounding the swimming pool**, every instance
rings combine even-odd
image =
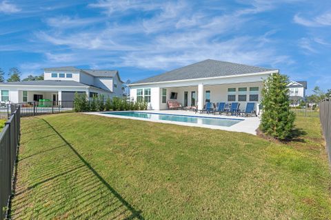
[[[121,111],[117,111],[121,112]],[[160,114],[179,114],[183,116],[200,116],[200,117],[212,117],[212,118],[221,118],[221,119],[243,119],[239,123],[234,124],[230,127],[225,126],[211,126],[211,125],[204,125],[199,123],[186,123],[186,122],[179,122],[179,121],[163,121],[163,120],[156,120],[156,119],[143,119],[137,117],[127,117],[121,115],[114,115],[114,114],[102,114],[106,112],[86,112],[85,114],[94,114],[103,117],[114,117],[120,119],[133,119],[133,120],[141,120],[141,121],[153,121],[159,123],[171,123],[175,125],[181,126],[192,126],[192,127],[200,127],[200,128],[210,128],[210,129],[218,129],[218,130],[228,130],[232,132],[245,132],[248,134],[256,135],[257,128],[259,128],[260,118],[259,117],[236,117],[236,116],[226,116],[226,115],[214,115],[214,114],[199,114],[195,112],[185,111],[185,110],[139,110],[139,111],[130,111],[130,112],[146,112],[146,113],[160,113]]]

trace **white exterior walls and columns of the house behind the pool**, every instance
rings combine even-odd
[[[205,91],[210,90],[211,102],[225,102],[228,101],[228,88],[237,88],[236,102],[241,103],[240,109],[245,109],[245,103],[249,102],[250,87],[259,87],[259,103],[261,101],[261,90],[263,88],[263,79],[266,79],[270,74],[258,74],[243,77],[225,77],[220,79],[203,79],[192,81],[177,81],[168,83],[154,83],[146,85],[131,85],[130,99],[137,101],[138,88],[151,88],[151,102],[149,106],[154,110],[165,110],[168,108],[166,103],[161,103],[161,89],[167,89],[167,101],[170,99],[171,92],[177,92],[177,101],[183,105],[184,92],[188,92],[188,106],[191,106],[191,92],[195,91],[196,99],[198,98],[198,85],[203,83],[203,103],[205,102]],[[238,101],[238,88],[247,87],[246,101]],[[196,104],[197,104],[196,100]]]

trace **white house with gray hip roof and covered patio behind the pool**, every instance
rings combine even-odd
[[[261,101],[263,80],[277,72],[279,70],[207,59],[131,83],[130,97],[133,101],[147,101],[151,110],[167,109],[168,100],[199,109],[207,101],[239,102],[240,109],[244,110],[245,103]]]

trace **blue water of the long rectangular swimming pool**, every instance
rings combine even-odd
[[[154,119],[162,121],[179,121],[186,123],[197,123],[210,126],[225,126],[230,127],[243,119],[223,119],[223,118],[213,118],[213,117],[203,117],[203,116],[188,116],[179,114],[161,114],[161,113],[150,113],[150,112],[106,112],[103,114],[114,114],[126,117],[136,117],[143,119]]]

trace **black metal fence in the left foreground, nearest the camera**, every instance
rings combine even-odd
[[[0,132],[0,219],[5,219],[8,214],[20,138],[20,106],[13,110],[10,119]]]

